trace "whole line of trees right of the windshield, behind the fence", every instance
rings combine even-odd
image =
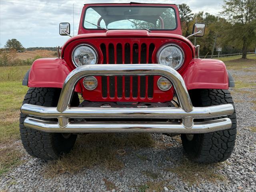
[[[255,51],[256,0],[224,0],[218,16],[203,11],[192,14],[186,4],[179,4],[178,8],[183,36],[191,34],[194,23],[206,24],[204,37],[190,38],[200,45],[200,55],[216,54],[216,47],[222,48],[222,54],[242,52],[242,58]]]

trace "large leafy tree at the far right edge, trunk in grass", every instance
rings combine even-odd
[[[224,0],[222,14],[227,16],[233,25],[230,36],[242,45],[242,58],[250,44],[255,42],[256,0]]]

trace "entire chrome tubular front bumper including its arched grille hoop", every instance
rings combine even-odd
[[[176,90],[180,107],[161,108],[100,108],[70,107],[70,100],[77,82],[85,76],[98,75],[159,75],[172,82]],[[229,129],[231,120],[220,118],[204,122],[194,119],[214,118],[231,115],[232,104],[208,107],[193,107],[182,76],[176,70],[159,64],[108,64],[81,66],[67,76],[60,94],[57,107],[43,107],[24,104],[23,114],[29,115],[24,126],[45,132],[159,132],[159,133],[206,133]],[[56,118],[56,122],[39,120]],[[112,122],[71,122],[70,118],[112,118]],[[118,122],[116,119],[130,118],[129,122]],[[181,122],[132,122],[136,118],[178,118]],[[58,120],[58,121],[57,121]]]

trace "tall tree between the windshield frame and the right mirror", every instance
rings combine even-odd
[[[189,8],[189,6],[187,4],[179,4],[178,5],[179,8],[179,13],[180,13],[180,22],[181,22],[181,26],[182,26],[182,33],[184,36],[188,36],[189,33],[189,22],[192,20],[193,18],[193,14],[192,14],[192,10]]]

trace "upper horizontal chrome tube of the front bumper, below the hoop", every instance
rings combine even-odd
[[[36,106],[24,104],[21,112],[26,115],[40,118],[213,118],[231,115],[234,113],[232,104],[215,105],[208,107],[194,107],[191,112],[185,112],[182,108],[88,108],[70,107],[64,112],[58,112],[56,107]]]

